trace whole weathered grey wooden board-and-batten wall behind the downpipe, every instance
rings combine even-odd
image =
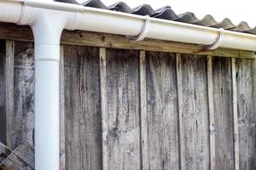
[[[0,140],[33,144],[32,42],[0,42]],[[256,169],[256,61],[61,46],[61,169]]]

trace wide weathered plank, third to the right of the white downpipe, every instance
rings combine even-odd
[[[179,169],[175,54],[148,52],[148,169]]]

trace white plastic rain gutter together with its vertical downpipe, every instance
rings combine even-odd
[[[34,34],[37,170],[59,169],[59,61],[63,29],[256,51],[255,35],[50,0],[0,0],[0,21],[31,26]]]

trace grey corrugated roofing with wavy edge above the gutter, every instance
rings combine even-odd
[[[242,21],[238,26],[235,26],[230,19],[225,18],[221,22],[214,20],[212,15],[207,14],[203,19],[198,19],[194,13],[187,12],[183,14],[176,14],[170,6],[159,8],[154,10],[150,5],[143,4],[136,8],[131,8],[124,2],[114,3],[113,5],[106,6],[100,0],[88,0],[84,3],[77,3],[75,0],[55,0],[61,3],[75,3],[84,5],[85,7],[102,8],[108,10],[119,11],[123,13],[149,15],[153,18],[159,18],[164,20],[174,20],[199,26],[208,26],[213,28],[224,28],[230,31],[240,31],[256,35],[256,27],[251,28],[247,22]]]

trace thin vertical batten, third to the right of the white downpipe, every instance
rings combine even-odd
[[[143,170],[148,170],[148,118],[146,91],[146,52],[140,51],[141,146]]]

